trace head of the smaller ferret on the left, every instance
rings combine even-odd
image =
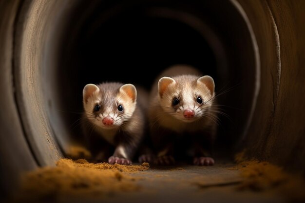
[[[132,117],[136,89],[132,84],[88,84],[83,89],[83,105],[93,124],[103,129],[115,129]]]

